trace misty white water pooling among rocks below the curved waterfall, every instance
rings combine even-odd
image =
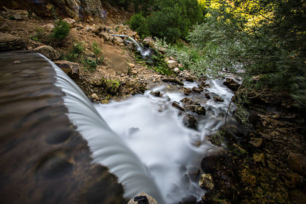
[[[206,115],[194,113],[198,118],[198,130],[183,126],[182,118],[177,116],[178,109],[171,104],[185,95],[173,88],[168,91],[166,85],[153,89],[159,90],[162,97],[153,96],[148,90],[122,102],[95,105],[110,128],[146,165],[166,203],[177,202],[188,195],[200,198],[204,193],[197,181],[186,181],[183,176],[188,166],[199,167],[200,159],[207,155],[205,149],[211,147],[206,141],[207,135],[224,125],[227,105],[233,95],[221,80],[207,82],[211,86],[207,88],[211,97],[220,96],[224,101],[209,99],[202,104]],[[196,85],[185,82],[185,87]],[[205,101],[204,93],[190,97]],[[194,145],[198,142],[201,145]]]

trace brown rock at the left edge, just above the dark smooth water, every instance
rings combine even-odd
[[[7,33],[0,33],[0,51],[18,50],[25,47],[25,42],[20,37]]]

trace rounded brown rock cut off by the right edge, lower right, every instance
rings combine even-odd
[[[306,175],[306,157],[304,155],[290,152],[288,155],[288,165],[293,171],[302,176]]]

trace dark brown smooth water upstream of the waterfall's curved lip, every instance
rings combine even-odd
[[[0,203],[124,203],[117,177],[91,163],[50,63],[26,51],[0,62]]]

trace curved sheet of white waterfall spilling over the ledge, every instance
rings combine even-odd
[[[82,90],[53,62],[48,61],[56,72],[55,85],[65,92],[63,100],[68,108],[68,117],[87,140],[93,162],[107,166],[118,177],[124,188],[124,197],[132,198],[144,191],[158,203],[164,203],[146,166],[109,128]]]

